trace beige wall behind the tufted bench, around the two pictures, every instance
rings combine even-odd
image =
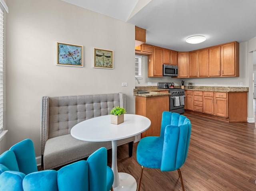
[[[134,25],[60,0],[6,3],[6,148],[31,138],[40,156],[42,96],[123,92],[135,112]],[[84,67],[56,66],[56,41],[83,45]],[[92,68],[93,47],[114,51],[113,70]]]

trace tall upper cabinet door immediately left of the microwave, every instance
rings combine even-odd
[[[153,48],[153,72],[154,76],[163,76],[163,49],[159,47]]]

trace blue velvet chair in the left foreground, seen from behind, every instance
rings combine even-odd
[[[114,174],[107,150],[100,148],[82,160],[56,170],[38,171],[32,140],[26,139],[0,155],[0,191],[112,190]]]

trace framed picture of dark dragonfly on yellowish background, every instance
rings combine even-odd
[[[93,67],[114,69],[113,57],[112,50],[93,48]]]

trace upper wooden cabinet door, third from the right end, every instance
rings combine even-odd
[[[208,48],[198,51],[198,77],[208,77]]]

